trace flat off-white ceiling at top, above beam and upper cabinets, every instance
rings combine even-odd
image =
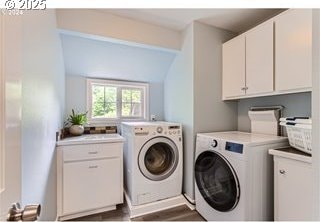
[[[181,31],[192,21],[199,21],[235,33],[247,31],[284,10],[276,8],[99,9],[101,12],[112,13],[174,30]]]

